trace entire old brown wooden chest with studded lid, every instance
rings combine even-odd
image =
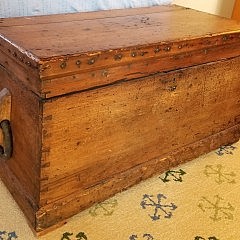
[[[240,25],[161,6],[0,20],[1,178],[36,232],[240,137]]]

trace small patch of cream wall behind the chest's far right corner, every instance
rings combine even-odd
[[[235,0],[173,0],[173,4],[231,17]]]

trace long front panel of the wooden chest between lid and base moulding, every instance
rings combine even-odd
[[[238,137],[239,68],[240,58],[235,58],[45,102],[41,209],[54,206],[47,211],[57,214],[58,208],[67,208],[66,199],[185,146],[197,149],[203,139],[221,136],[225,129],[234,129]],[[230,136],[223,138],[237,140]],[[104,197],[82,198],[78,207],[98,198]],[[42,210],[39,218],[51,219]]]

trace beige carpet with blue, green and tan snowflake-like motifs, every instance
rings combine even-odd
[[[93,206],[40,240],[240,240],[240,142]],[[36,239],[0,182],[0,240]]]

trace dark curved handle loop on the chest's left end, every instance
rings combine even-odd
[[[0,159],[8,160],[11,158],[13,151],[12,130],[10,121],[1,121],[0,129],[3,133],[3,146],[0,145]]]

